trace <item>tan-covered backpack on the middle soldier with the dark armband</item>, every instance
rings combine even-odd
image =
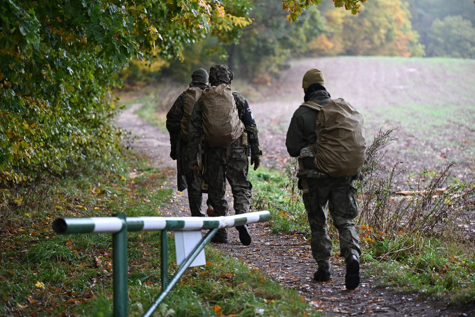
[[[244,125],[231,88],[226,84],[212,86],[201,97],[203,134],[209,146],[226,146],[236,141],[244,132]]]

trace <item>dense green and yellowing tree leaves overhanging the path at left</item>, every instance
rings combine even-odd
[[[234,40],[250,21],[230,2],[246,1],[0,0],[0,182],[117,156],[120,69],[207,33]]]

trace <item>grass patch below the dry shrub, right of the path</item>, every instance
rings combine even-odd
[[[377,264],[368,273],[380,277],[380,285],[469,303],[475,298],[475,257],[460,247],[453,241],[400,235],[372,242],[364,259]]]

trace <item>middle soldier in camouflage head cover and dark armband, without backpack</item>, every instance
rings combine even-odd
[[[211,86],[219,86],[221,84],[230,85],[232,79],[233,73],[226,65],[220,64],[209,69],[209,83]],[[251,145],[251,165],[254,164],[254,170],[257,170],[260,165],[260,155],[262,152],[259,147],[256,121],[254,120],[246,99],[236,91],[233,91],[232,95],[236,101],[239,119],[244,124],[245,131],[248,135],[248,142]],[[202,98],[199,98],[195,104],[195,108],[191,114],[188,132],[190,168],[196,171],[198,170],[199,144],[203,126],[201,102]],[[228,202],[225,198],[226,179],[228,179],[231,185],[236,214],[249,212],[252,184],[247,180],[248,149],[247,145],[242,144],[242,137],[238,138],[230,144],[229,152],[228,146],[211,147],[203,140],[203,147],[206,149],[206,157],[203,158],[203,164],[205,165],[204,178],[208,181],[208,197],[214,208],[215,216],[226,216],[228,212]],[[239,231],[241,243],[249,245],[251,243],[251,237],[247,226],[237,226],[236,229]],[[220,229],[211,241],[228,243],[227,229]]]

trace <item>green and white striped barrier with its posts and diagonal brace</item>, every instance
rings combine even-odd
[[[203,250],[220,228],[230,228],[244,224],[267,221],[269,211],[255,211],[225,217],[115,217],[59,218],[53,222],[53,230],[61,234],[72,233],[112,233],[113,237],[113,277],[114,277],[114,317],[127,316],[127,231],[161,231],[161,282],[162,290],[158,298],[143,316],[151,316],[171,288],[188,269],[193,260]],[[196,245],[180,269],[168,278],[168,236],[167,230],[199,231],[212,229]]]

